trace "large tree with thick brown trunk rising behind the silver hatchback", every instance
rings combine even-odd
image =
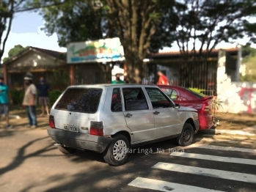
[[[95,7],[95,2],[100,7]],[[129,79],[132,83],[141,83],[143,59],[149,49],[157,52],[161,48],[161,40],[171,39],[161,35],[164,27],[159,24],[166,20],[160,12],[161,9],[172,10],[174,4],[178,3],[174,0],[67,2],[60,7],[43,10],[44,30],[48,35],[56,32],[59,45],[62,46],[72,41],[119,37],[125,52]],[[172,11],[168,13],[170,16]]]

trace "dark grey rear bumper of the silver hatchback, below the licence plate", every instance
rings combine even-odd
[[[76,149],[88,149],[103,152],[112,141],[111,138],[92,136],[84,133],[73,133],[67,130],[48,128],[48,135],[59,144]]]

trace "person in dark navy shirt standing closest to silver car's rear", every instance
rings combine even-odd
[[[39,104],[42,107],[42,114],[40,116],[45,114],[49,115],[49,85],[45,83],[45,78],[40,77],[40,84],[37,84],[37,89],[39,90],[38,97],[39,97]]]

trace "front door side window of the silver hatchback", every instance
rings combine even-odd
[[[146,88],[147,95],[150,97],[153,108],[170,108],[172,103],[168,98],[156,88]]]

